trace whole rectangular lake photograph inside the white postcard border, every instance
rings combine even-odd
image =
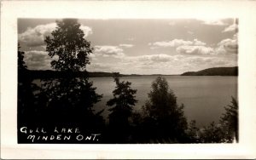
[[[238,19],[18,19],[18,144],[238,143]]]

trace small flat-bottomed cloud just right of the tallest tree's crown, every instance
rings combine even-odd
[[[95,54],[103,57],[112,56],[114,58],[121,58],[125,56],[124,50],[118,46],[95,46]]]

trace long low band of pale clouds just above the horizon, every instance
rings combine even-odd
[[[193,56],[191,54],[148,54],[125,56],[120,60],[111,59],[112,61],[102,61],[101,58],[98,57],[98,60],[91,61],[90,66],[87,66],[88,71],[119,71],[124,74],[180,74],[209,67],[237,65],[236,56],[218,57],[198,54]]]

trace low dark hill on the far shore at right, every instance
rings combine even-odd
[[[238,66],[234,67],[215,67],[201,71],[188,71],[181,76],[238,76]]]

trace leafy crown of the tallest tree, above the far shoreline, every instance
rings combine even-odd
[[[90,43],[84,39],[84,32],[75,19],[56,21],[57,28],[51,37],[46,37],[46,51],[51,58],[51,66],[60,71],[81,71],[89,64],[88,54],[92,53]]]

